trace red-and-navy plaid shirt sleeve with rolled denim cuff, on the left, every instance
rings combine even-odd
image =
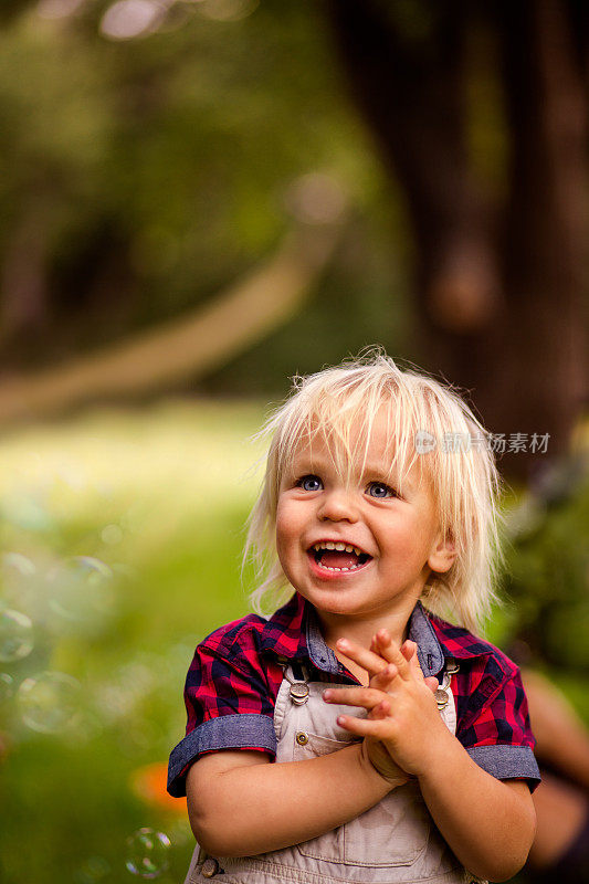
[[[197,648],[186,680],[186,736],[168,765],[168,792],[175,798],[186,794],[188,769],[204,753],[276,754],[274,704],[257,654],[215,642],[214,633],[209,640]]]

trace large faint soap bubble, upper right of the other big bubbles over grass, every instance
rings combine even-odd
[[[114,606],[113,571],[92,556],[66,559],[49,575],[50,608],[64,620],[97,625]]]

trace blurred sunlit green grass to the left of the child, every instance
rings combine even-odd
[[[191,835],[181,810],[143,801],[130,779],[167,761],[183,736],[196,643],[248,609],[240,551],[260,481],[248,471],[261,452],[248,438],[261,419],[256,404],[172,402],[90,412],[0,443],[2,603],[28,614],[35,634],[32,653],[0,671],[14,687],[56,670],[82,688],[63,733],[28,728],[17,697],[0,705],[6,884],[132,882],[125,842],[141,827],[171,840],[158,880],[183,880]],[[35,573],[20,573],[7,552]],[[67,619],[51,575],[72,556],[96,557],[115,577],[99,603],[92,587],[75,587],[91,599]]]

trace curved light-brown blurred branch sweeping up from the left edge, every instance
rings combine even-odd
[[[337,224],[292,231],[272,260],[192,314],[63,367],[9,379],[0,388],[0,424],[96,399],[154,394],[225,364],[301,308],[338,232]]]

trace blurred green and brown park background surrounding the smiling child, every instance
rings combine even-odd
[[[589,722],[586,44],[543,52],[548,6],[2,4],[7,884],[183,880],[161,778],[194,644],[248,610],[252,436],[367,345],[550,434],[501,462],[487,634]]]

